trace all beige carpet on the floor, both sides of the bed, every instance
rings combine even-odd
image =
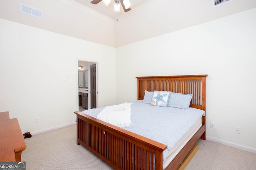
[[[112,170],[108,164],[76,145],[76,125],[25,139],[26,170]],[[198,141],[199,149],[185,170],[256,170],[256,154],[212,141]]]

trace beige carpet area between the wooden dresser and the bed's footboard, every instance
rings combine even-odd
[[[76,145],[76,125],[25,139],[21,159],[26,170],[112,170],[108,164]]]

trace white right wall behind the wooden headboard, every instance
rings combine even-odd
[[[118,47],[117,101],[137,99],[135,76],[208,74],[206,136],[256,151],[255,21],[256,8]]]

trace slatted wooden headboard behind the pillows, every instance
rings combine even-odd
[[[193,94],[190,107],[205,111],[206,76],[208,75],[136,77],[138,79],[138,100],[143,100],[145,90]]]

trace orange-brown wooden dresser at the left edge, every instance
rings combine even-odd
[[[9,112],[0,113],[0,162],[21,161],[26,143],[18,119],[10,119]]]

